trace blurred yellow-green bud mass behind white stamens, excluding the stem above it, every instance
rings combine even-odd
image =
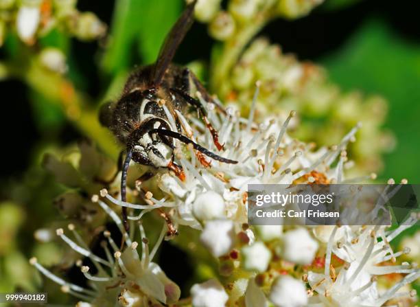
[[[358,92],[342,93],[331,83],[320,67],[299,62],[292,55],[282,54],[277,45],[264,38],[255,40],[233,67],[229,81],[221,89],[226,102],[242,104],[242,113],[249,112],[254,84],[261,82],[259,112],[297,110],[305,118],[296,125],[294,135],[318,144],[337,142],[358,121],[364,123],[358,142],[349,149],[358,170],[382,168],[381,155],[392,150],[394,138],[383,130],[386,102],[379,96],[363,97]]]

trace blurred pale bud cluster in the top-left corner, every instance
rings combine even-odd
[[[103,36],[106,25],[91,12],[79,12],[73,0],[1,0],[0,45],[7,32],[16,30],[21,41],[33,45],[38,36],[54,28],[81,39]]]

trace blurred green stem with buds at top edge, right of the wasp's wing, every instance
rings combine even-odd
[[[209,34],[221,42],[214,47],[210,76],[211,89],[218,95],[222,95],[224,82],[244,47],[268,22],[277,17],[305,16],[323,0],[231,0],[226,10],[221,2],[199,0],[195,10],[196,19],[208,23]]]

